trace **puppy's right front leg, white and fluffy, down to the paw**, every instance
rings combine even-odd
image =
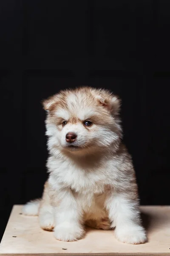
[[[127,198],[126,194],[108,195],[106,200],[109,218],[116,226],[116,238],[127,244],[142,244],[147,241],[141,225],[138,201]]]

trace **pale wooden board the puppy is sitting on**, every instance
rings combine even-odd
[[[170,206],[141,207],[149,242],[129,245],[117,241],[113,231],[88,229],[85,238],[74,242],[57,241],[53,232],[40,229],[38,217],[21,215],[20,205],[12,209],[0,255],[169,255]]]

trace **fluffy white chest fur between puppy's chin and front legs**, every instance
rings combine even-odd
[[[50,157],[48,169],[51,172],[49,182],[52,186],[59,183],[81,194],[101,194],[108,185],[109,175],[102,163],[87,168],[86,165],[83,167],[82,164]]]

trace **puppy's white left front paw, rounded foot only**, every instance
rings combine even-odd
[[[59,241],[76,241],[82,238],[84,234],[83,228],[79,224],[71,224],[64,222],[54,229],[54,236]]]

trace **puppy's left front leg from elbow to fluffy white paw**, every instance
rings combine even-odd
[[[52,191],[51,191],[52,192]],[[57,197],[51,193],[54,204],[54,236],[60,241],[75,241],[84,234],[82,209],[78,206],[73,192],[69,188],[57,188]]]

